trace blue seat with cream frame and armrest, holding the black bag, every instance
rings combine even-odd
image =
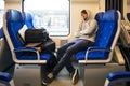
[[[4,34],[16,63],[47,63],[50,54],[40,53],[37,47],[25,47],[18,38],[18,30],[25,25],[25,16],[17,10],[8,10],[4,15]],[[30,25],[29,25],[30,26]]]

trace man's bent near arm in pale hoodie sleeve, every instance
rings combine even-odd
[[[83,35],[91,35],[96,30],[98,23],[96,20],[91,20],[90,27],[86,27],[84,30],[80,31]]]

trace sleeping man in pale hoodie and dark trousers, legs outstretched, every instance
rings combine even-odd
[[[92,46],[94,44],[98,31],[96,20],[90,20],[86,10],[81,11],[81,16],[83,20],[80,23],[79,28],[75,33],[77,40],[67,43],[57,49],[58,63],[54,67],[52,72],[43,78],[42,84],[50,84],[64,67],[66,67],[66,69],[70,73],[72,83],[76,84],[78,82],[78,70],[73,67],[70,62],[70,57],[74,54],[80,51],[84,51],[89,46]]]

